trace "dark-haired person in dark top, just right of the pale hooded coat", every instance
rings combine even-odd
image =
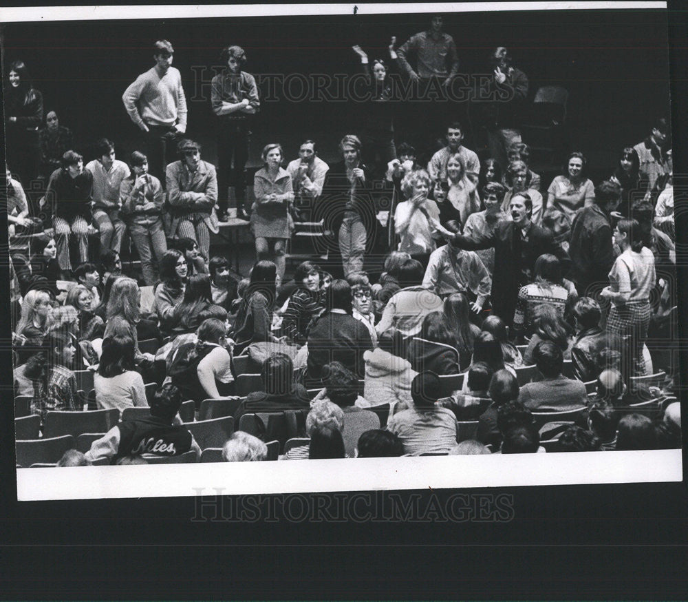
[[[416,372],[460,372],[456,338],[441,311],[433,311],[425,316],[419,335],[409,343],[406,357]]]

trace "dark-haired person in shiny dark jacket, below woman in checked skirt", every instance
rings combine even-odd
[[[574,376],[582,382],[595,380],[602,368],[599,355],[603,349],[620,349],[619,341],[612,340],[610,333],[600,327],[602,310],[590,297],[579,299],[574,308],[576,340],[571,349]]]

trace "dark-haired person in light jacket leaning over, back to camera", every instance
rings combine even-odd
[[[408,259],[401,265],[398,280],[402,289],[385,305],[375,327],[378,335],[394,327],[405,338],[416,336],[426,315],[443,311],[442,299],[422,286],[423,272],[422,264],[415,259]]]

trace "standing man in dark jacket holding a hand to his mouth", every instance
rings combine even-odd
[[[491,61],[494,74],[489,87],[487,139],[490,156],[506,169],[508,149],[521,142],[519,127],[528,97],[528,77],[511,66],[511,55],[504,46],[495,48]]]

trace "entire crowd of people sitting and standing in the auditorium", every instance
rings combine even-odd
[[[402,70],[418,79],[409,48]],[[389,50],[396,61],[394,42]],[[506,49],[497,50],[502,61]],[[223,98],[218,88],[213,109],[223,118],[220,140],[235,145],[235,162],[245,163],[244,118],[259,99],[252,76],[241,71],[244,51],[226,51],[229,72],[248,91]],[[102,138],[85,167],[54,111],[36,138],[41,160],[32,156],[43,99],[25,65],[10,65],[13,152],[5,189],[15,394],[31,397],[41,432],[54,411],[116,409],[123,418],[127,408],[149,408],[104,431],[83,458],[71,453],[59,465],[131,464],[149,453],[200,459],[186,425],[204,422],[206,399],[232,402],[226,461],[266,459],[271,435],[286,459],[557,450],[541,444],[544,412],[577,412],[555,433],[561,450],[680,446],[671,398],[676,366],[646,344],[674,306],[665,120],[596,183],[581,152],[571,152],[550,182],[535,174],[513,128],[491,138],[508,143],[503,153],[480,158],[463,144],[464,125],[449,120],[446,145],[418,154],[430,157],[427,165],[416,163],[409,144],[395,146],[391,121],[384,132],[345,134],[343,160],[332,167],[312,140],[288,165],[281,145],[268,143],[255,204],[240,199],[257,261],[239,281],[230,276],[226,249],[211,253],[217,209],[222,218],[226,210],[217,169],[227,169],[229,151],[216,168],[201,159],[199,143],[184,138],[186,103],[173,52],[169,42],[155,43],[151,72],[164,82],[158,92],[147,72],[125,93],[145,144],[125,163]],[[415,52],[431,50],[420,44]],[[495,81],[517,85],[507,73],[522,87],[524,74],[504,65]],[[376,59],[369,80],[380,103],[389,100],[386,69]],[[378,157],[371,169],[363,163]],[[39,163],[47,187],[32,215],[23,185]],[[236,177],[224,173],[223,187]],[[367,250],[379,242],[377,189],[394,191],[388,213],[398,236],[383,245],[379,275],[364,269]],[[341,269],[322,269],[314,252],[287,282],[286,241],[299,207],[322,216]],[[127,231],[140,271],[122,267]],[[145,302],[142,287],[151,289]],[[80,388],[84,372],[92,373],[85,382],[93,391]],[[663,378],[653,379],[657,373]],[[247,374],[259,375],[248,390]],[[191,417],[182,411],[189,400]],[[240,430],[244,417],[261,413],[288,415],[289,428]],[[462,423],[473,424],[469,435]],[[305,442],[284,451],[288,435]]]

